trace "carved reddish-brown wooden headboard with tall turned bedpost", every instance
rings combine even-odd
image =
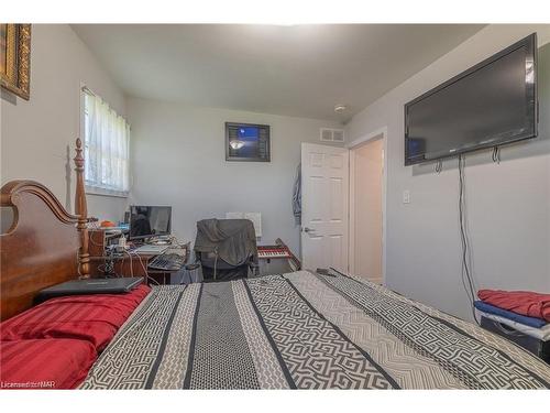
[[[76,141],[75,215],[34,181],[2,186],[0,205],[13,209],[13,222],[0,235],[0,319],[31,306],[51,285],[89,278],[88,211],[84,187],[82,143]]]

